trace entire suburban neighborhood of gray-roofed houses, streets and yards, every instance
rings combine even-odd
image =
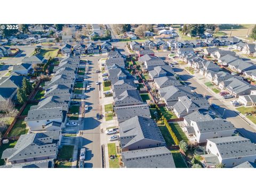
[[[18,26],[0,167],[256,167],[256,26]]]

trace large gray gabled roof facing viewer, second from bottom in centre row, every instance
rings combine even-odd
[[[122,148],[143,139],[165,143],[163,135],[154,119],[135,116],[119,125]]]

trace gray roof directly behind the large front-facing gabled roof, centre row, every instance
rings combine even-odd
[[[135,116],[142,116],[151,118],[149,106],[145,105],[133,105],[133,106],[124,106],[124,107],[115,107],[115,113],[117,115],[117,121],[122,122],[126,121]]]

